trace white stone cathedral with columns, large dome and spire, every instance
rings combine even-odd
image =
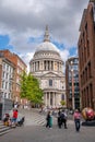
[[[40,83],[44,91],[44,103],[47,107],[60,107],[66,102],[66,78],[63,61],[58,48],[50,42],[48,26],[44,42],[38,45],[33,59],[29,61],[31,73]]]

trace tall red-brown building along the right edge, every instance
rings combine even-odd
[[[81,107],[95,109],[95,0],[84,9],[78,46]]]

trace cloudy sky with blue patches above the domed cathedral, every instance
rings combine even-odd
[[[88,1],[0,0],[0,49],[15,52],[28,66],[48,25],[62,60],[78,56],[79,28]]]

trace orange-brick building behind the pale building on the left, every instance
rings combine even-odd
[[[13,100],[20,103],[20,75],[23,71],[26,71],[26,64],[17,55],[9,50],[0,50],[0,54],[15,66],[15,74],[11,83],[13,84]]]

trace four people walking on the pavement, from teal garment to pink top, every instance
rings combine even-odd
[[[46,123],[46,128],[52,128],[52,116],[51,116],[51,111],[49,110],[46,117],[47,123]],[[66,110],[60,110],[58,111],[58,127],[61,129],[61,127],[64,127],[64,129],[68,129],[67,127],[67,120],[68,120],[68,115],[66,113]],[[75,111],[73,113],[73,120],[75,123],[75,130],[79,132],[80,131],[80,126],[81,126],[81,113],[79,111],[79,109],[75,109]]]

